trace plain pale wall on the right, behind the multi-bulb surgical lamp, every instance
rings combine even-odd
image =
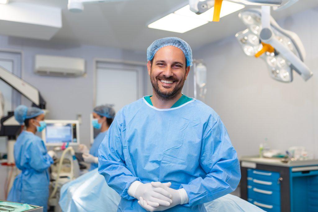
[[[317,17],[313,8],[278,20],[305,46],[305,62],[314,72],[308,82],[296,72],[290,84],[271,79],[266,64],[245,56],[234,34],[194,51],[208,67],[206,103],[225,123],[239,156],[258,154],[259,143],[268,138],[272,148],[304,146],[318,157]]]

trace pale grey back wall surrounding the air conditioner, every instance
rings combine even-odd
[[[106,37],[107,35],[105,35]],[[48,41],[0,36],[0,51],[5,49],[23,52],[22,78],[35,86],[47,102],[47,119],[77,119],[82,115],[80,139],[89,144],[89,114],[93,110],[94,58],[108,58],[147,62],[144,52],[115,48],[80,45],[77,43],[52,43]],[[61,78],[39,76],[33,73],[36,54],[80,57],[86,60],[86,76]],[[105,80],[107,83],[107,80]],[[31,106],[25,99],[22,103]]]

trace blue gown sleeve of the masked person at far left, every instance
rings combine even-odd
[[[47,154],[46,149],[45,151],[41,151],[41,149],[43,149],[43,147],[41,147],[42,143],[42,140],[29,141],[26,150],[26,154],[29,158],[29,164],[31,168],[38,172],[44,171],[45,169],[49,168],[53,163],[53,159],[49,154]]]

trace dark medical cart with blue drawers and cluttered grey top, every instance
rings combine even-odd
[[[242,157],[241,198],[270,212],[318,211],[318,160]]]

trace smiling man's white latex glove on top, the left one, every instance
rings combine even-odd
[[[168,188],[170,185],[171,183],[165,183],[153,187],[151,183],[135,181],[129,186],[128,194],[138,200],[142,197],[151,207],[158,207],[159,205],[169,206],[172,203],[171,195],[164,188]]]

